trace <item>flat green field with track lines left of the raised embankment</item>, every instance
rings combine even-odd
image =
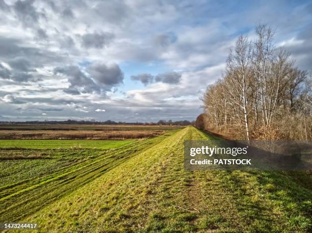
[[[41,158],[45,159],[0,161],[0,219],[16,221],[42,209],[43,206],[91,182],[173,132],[146,140],[126,143],[119,141],[119,147],[109,141],[115,146],[106,150],[2,150],[1,153],[8,152],[6,156],[40,153]]]

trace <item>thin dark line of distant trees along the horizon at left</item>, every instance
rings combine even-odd
[[[176,121],[171,120],[164,121],[160,120],[157,123],[154,122],[115,122],[115,121],[105,121],[105,122],[96,122],[96,121],[76,121],[76,120],[67,120],[67,121],[26,121],[26,122],[0,122],[3,125],[178,125],[178,126],[187,126],[193,125],[193,122],[188,120]]]

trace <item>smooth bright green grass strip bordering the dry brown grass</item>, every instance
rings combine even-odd
[[[1,148],[25,148],[25,149],[58,149],[58,148],[96,148],[111,149],[132,143],[134,140],[2,140]]]

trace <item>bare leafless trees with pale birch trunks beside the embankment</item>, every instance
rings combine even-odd
[[[270,26],[255,33],[237,39],[222,78],[203,95],[207,126],[247,140],[312,139],[310,76],[275,47]]]

